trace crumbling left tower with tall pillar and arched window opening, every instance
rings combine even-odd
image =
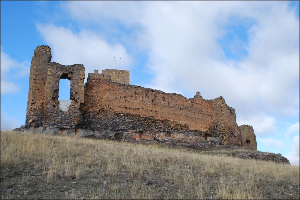
[[[85,67],[51,62],[51,48],[38,46],[30,67],[26,127],[75,128],[81,124]],[[70,80],[70,100],[58,100],[59,80]],[[64,105],[61,105],[64,104]]]

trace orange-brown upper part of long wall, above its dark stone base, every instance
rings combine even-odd
[[[83,111],[100,110],[129,113],[168,119],[191,130],[206,131],[213,126],[211,100],[187,99],[180,94],[167,94],[160,90],[111,82],[105,75],[89,73],[85,84]]]

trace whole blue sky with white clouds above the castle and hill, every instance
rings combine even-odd
[[[1,1],[0,36],[1,130],[25,124],[33,51],[49,45],[86,78],[116,57],[131,85],[223,96],[259,151],[299,164],[299,1]]]

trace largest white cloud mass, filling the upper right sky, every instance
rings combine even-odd
[[[288,2],[70,1],[64,7],[76,20],[108,31],[118,29],[116,23],[134,27],[132,45],[148,50],[154,74],[146,87],[223,96],[243,115],[288,116],[299,109],[299,19]],[[232,18],[250,24],[241,61],[226,59],[218,43]],[[273,130],[274,117],[264,121],[256,131]]]

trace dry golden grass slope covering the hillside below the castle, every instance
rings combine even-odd
[[[155,184],[144,184],[147,180]],[[8,194],[12,185],[16,189]],[[1,132],[1,199],[299,199],[298,187],[299,166],[158,145]],[[22,195],[25,190],[31,194]]]

